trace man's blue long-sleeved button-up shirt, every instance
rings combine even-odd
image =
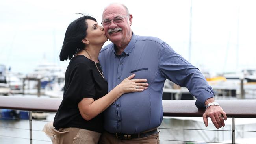
[[[160,126],[163,120],[162,93],[166,79],[187,87],[197,98],[196,106],[204,107],[214,96],[201,72],[156,37],[133,33],[121,55],[113,43],[99,55],[108,91],[135,73],[134,79],[147,79],[148,89],[122,95],[104,113],[104,128],[110,133],[134,134]]]

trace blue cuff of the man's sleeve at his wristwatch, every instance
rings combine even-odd
[[[199,96],[197,97],[197,100],[195,102],[195,105],[197,106],[197,108],[205,108],[204,106],[204,102],[208,99],[208,98],[212,98],[214,96],[214,92],[211,86],[207,87],[206,89],[204,89]]]

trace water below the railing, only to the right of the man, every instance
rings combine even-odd
[[[208,118],[208,121],[210,118]],[[256,119],[255,118],[235,118],[236,124],[236,140],[244,138],[254,138],[256,132]],[[216,129],[212,123],[209,123],[208,127],[204,126],[202,118],[188,118],[187,120],[180,120],[176,118],[165,118],[160,128],[172,128],[161,129],[161,140],[178,140],[178,141],[197,141],[200,144],[203,142],[224,142],[226,140],[232,140],[232,125],[231,118],[225,121],[226,126],[221,129]],[[186,129],[186,130],[180,130]],[[200,129],[200,130],[195,130]],[[213,131],[217,130],[217,131]],[[244,132],[238,132],[244,131]],[[254,139],[256,140],[256,139]],[[232,143],[232,141],[230,141]],[[241,142],[254,144],[255,141]],[[182,142],[176,141],[161,141],[161,144],[182,144]]]

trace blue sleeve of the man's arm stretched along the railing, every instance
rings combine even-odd
[[[168,44],[161,44],[159,68],[163,76],[181,87],[187,87],[189,92],[197,98],[195,105],[204,107],[204,102],[214,96],[213,89],[202,73],[177,54]]]

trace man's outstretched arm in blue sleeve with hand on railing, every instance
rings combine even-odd
[[[168,44],[163,43],[160,48],[159,68],[165,78],[173,81],[181,87],[187,87],[189,92],[197,98],[195,105],[204,108],[208,103],[214,102],[214,92],[208,85],[202,73],[191,65],[181,55],[177,54]],[[223,115],[223,117],[219,117]],[[205,126],[208,126],[207,118],[210,117],[214,126],[218,129],[225,126],[226,113],[220,106],[210,106],[206,109],[203,118]]]

